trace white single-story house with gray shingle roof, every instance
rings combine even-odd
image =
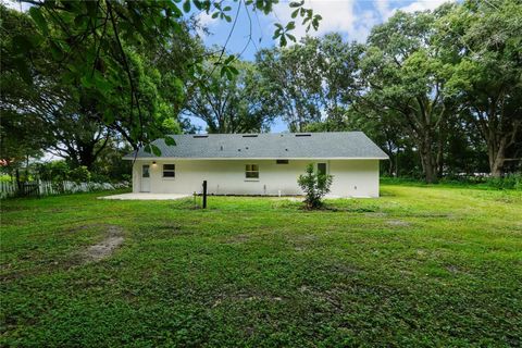
[[[173,135],[176,145],[153,141],[133,160],[133,191],[209,195],[302,195],[297,178],[307,164],[333,175],[331,195],[378,197],[384,153],[362,132]]]

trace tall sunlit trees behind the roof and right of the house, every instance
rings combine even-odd
[[[384,171],[443,176],[522,170],[522,3],[464,1],[397,12],[365,44],[306,37],[235,62],[184,109],[210,133],[364,130]]]

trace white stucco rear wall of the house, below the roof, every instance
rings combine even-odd
[[[141,190],[141,165],[150,164],[150,192],[201,192],[203,181],[215,195],[301,195],[297,177],[308,163],[325,162],[334,176],[330,195],[339,197],[378,197],[378,160],[137,160],[133,167],[133,191]],[[162,177],[163,164],[176,165],[176,177]],[[245,165],[259,165],[259,179],[245,177]]]

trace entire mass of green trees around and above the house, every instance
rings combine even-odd
[[[54,153],[71,170],[122,175],[123,153],[159,154],[151,140],[196,132],[198,117],[209,133],[269,132],[276,119],[291,132],[363,130],[388,153],[385,173],[428,183],[522,170],[520,1],[397,12],[365,44],[328,34],[285,47],[290,22],[276,28],[283,47],[253,62],[206,48],[183,16],[192,3],[232,22],[220,2],[32,3],[0,5],[4,167]]]

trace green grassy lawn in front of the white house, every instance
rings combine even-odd
[[[97,196],[2,202],[1,346],[522,345],[521,192]]]

